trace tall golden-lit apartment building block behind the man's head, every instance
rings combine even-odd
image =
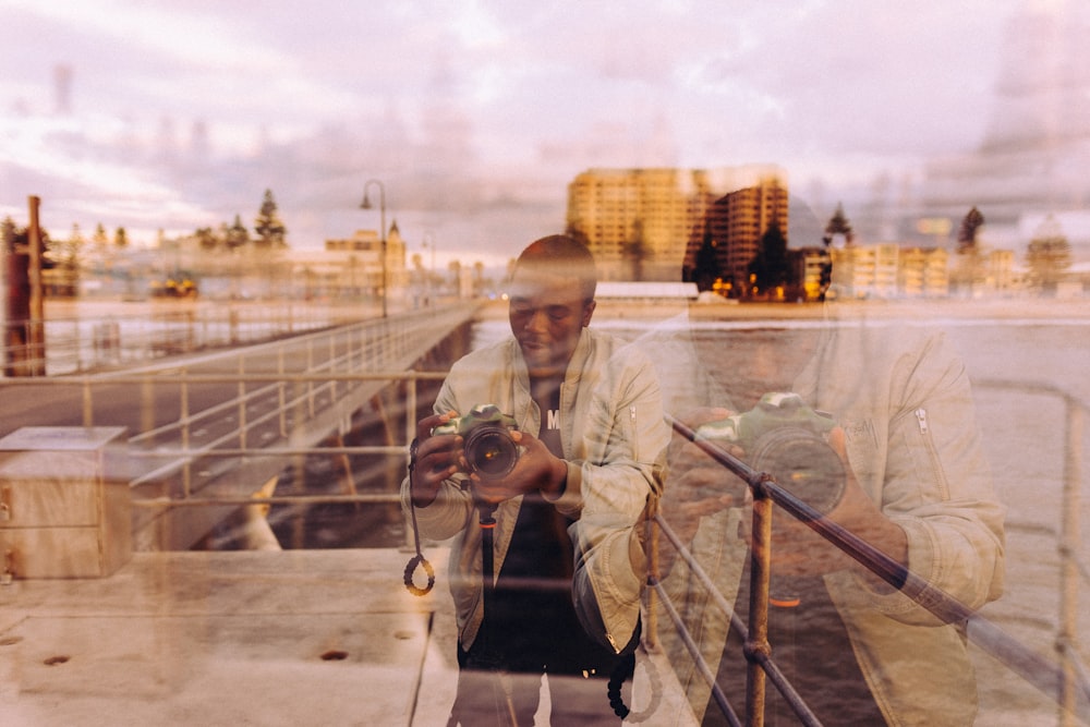
[[[677,281],[711,227],[720,266],[748,264],[772,220],[786,235],[786,179],[774,166],[590,169],[568,185],[567,228],[603,280]]]

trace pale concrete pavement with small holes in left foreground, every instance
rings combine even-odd
[[[446,550],[137,553],[113,575],[0,585],[0,723],[443,725]]]

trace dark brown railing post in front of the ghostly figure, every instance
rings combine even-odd
[[[763,483],[751,489],[753,547],[750,555],[749,635],[746,639],[746,724],[762,727],[767,677],[758,657],[772,654],[772,646],[768,644],[768,583],[772,578],[773,501]]]

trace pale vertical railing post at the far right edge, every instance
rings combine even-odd
[[[1059,629],[1056,633],[1056,652],[1059,655],[1059,718],[1064,727],[1075,725],[1077,680],[1073,659],[1079,617],[1079,545],[1082,512],[1080,487],[1082,483],[1082,428],[1083,411],[1067,399],[1067,431],[1064,452],[1064,497],[1059,531]]]

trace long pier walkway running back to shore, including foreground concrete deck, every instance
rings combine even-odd
[[[385,373],[404,374],[472,317],[473,306],[451,306],[121,369],[0,379],[0,434],[124,426],[134,504],[164,504],[136,508],[137,552],[106,578],[24,579],[16,567],[0,584],[0,724],[445,724],[457,677],[445,548],[427,553],[441,585],[417,597],[400,548],[185,547],[240,508],[215,502],[245,501],[343,432],[389,386]],[[386,447],[355,449],[403,452],[392,434]],[[170,525],[142,536],[164,513]]]

